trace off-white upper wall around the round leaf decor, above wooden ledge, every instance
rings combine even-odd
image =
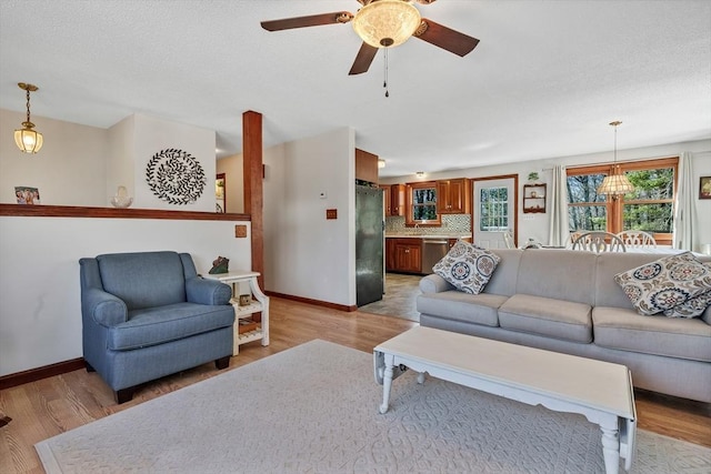
[[[42,204],[111,206],[119,185],[132,208],[214,212],[216,134],[212,130],[134,114],[110,129],[32,115],[44,137],[37,154],[20,152],[10,131],[24,114],[0,109],[0,202],[16,203],[14,186],[40,190]],[[146,182],[146,165],[164,149],[189,152],[202,167],[206,185],[192,204],[169,204]]]

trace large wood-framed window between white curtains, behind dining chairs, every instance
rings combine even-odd
[[[597,190],[609,165],[568,170],[569,229],[575,231],[645,231],[657,243],[671,244],[678,158],[618,163],[634,192],[612,199]]]

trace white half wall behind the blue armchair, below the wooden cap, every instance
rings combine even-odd
[[[173,250],[198,273],[218,256],[251,269],[250,222],[0,216],[0,375],[82,356],[79,259]]]

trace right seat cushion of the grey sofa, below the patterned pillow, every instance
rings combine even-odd
[[[711,325],[700,319],[647,316],[634,310],[592,310],[595,345],[621,351],[711,362]]]

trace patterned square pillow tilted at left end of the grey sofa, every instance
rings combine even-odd
[[[432,270],[458,290],[479,294],[489,283],[500,260],[493,252],[459,240]]]

